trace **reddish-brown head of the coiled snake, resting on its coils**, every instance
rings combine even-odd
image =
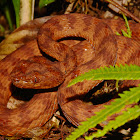
[[[64,80],[62,72],[43,57],[20,61],[10,76],[16,87],[32,89],[53,88]]]

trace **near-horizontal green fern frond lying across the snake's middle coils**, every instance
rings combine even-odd
[[[110,66],[92,69],[75,79],[73,79],[68,87],[82,82],[84,80],[138,80],[140,79],[140,67],[137,65]]]

